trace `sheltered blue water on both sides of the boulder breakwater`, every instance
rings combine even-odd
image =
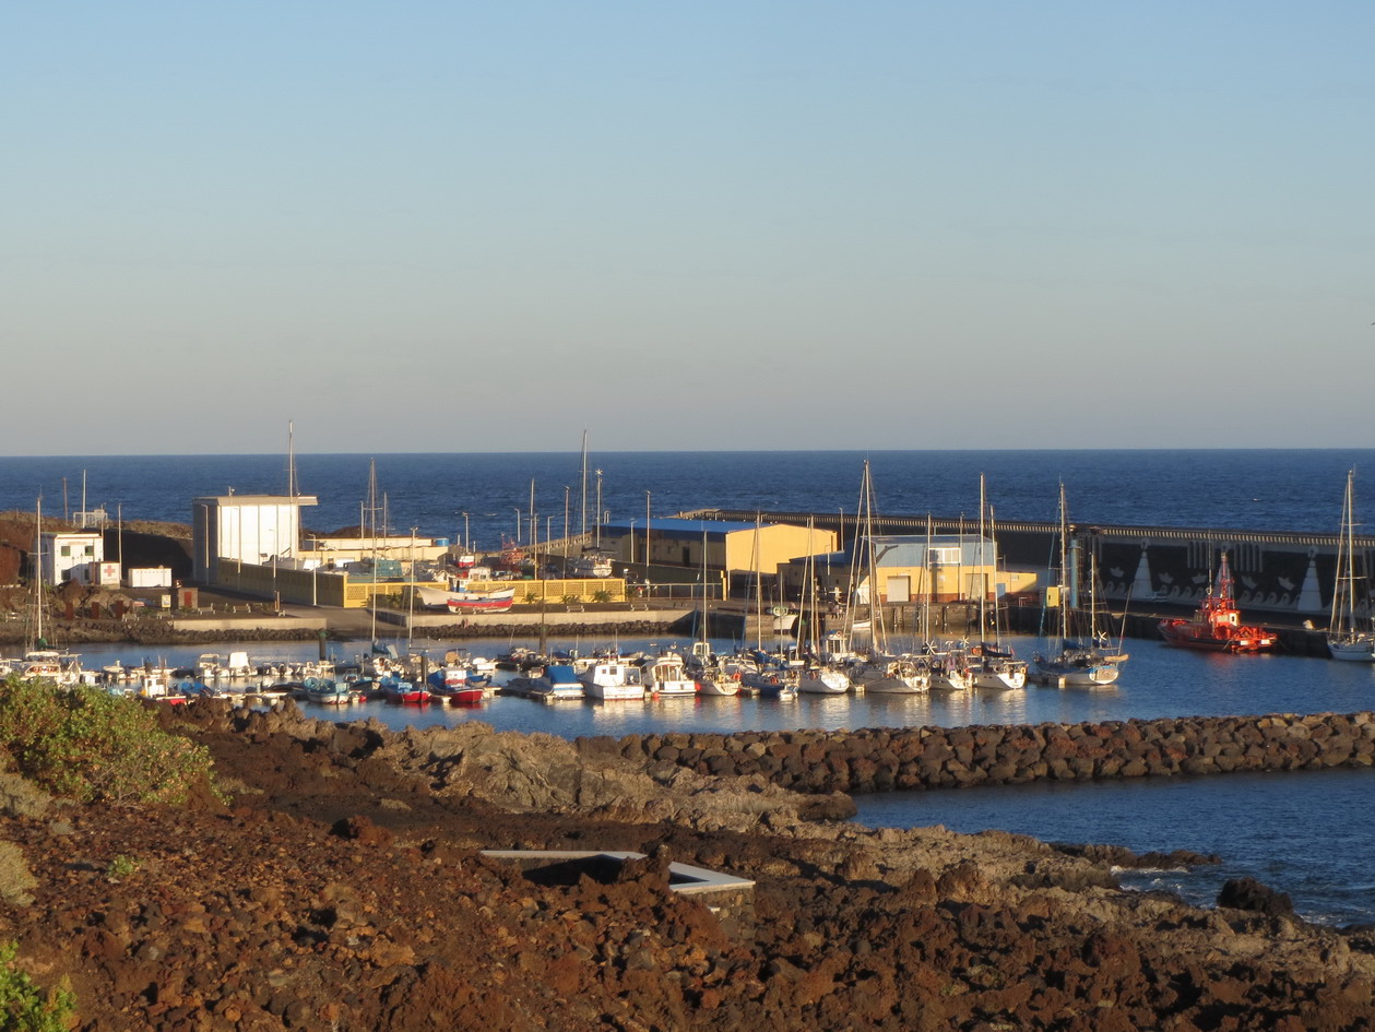
[[[534,642],[517,642],[517,644]],[[1034,639],[1013,639],[1030,654]],[[362,644],[362,643],[359,643]],[[605,640],[554,640],[551,647],[590,650]],[[622,640],[624,650],[674,644]],[[686,643],[679,643],[686,644]],[[509,643],[454,642],[447,647],[495,655]],[[733,642],[715,642],[727,650]],[[91,646],[87,666],[114,660],[165,658],[191,664],[209,647],[164,653],[128,646]],[[254,662],[318,655],[314,643],[217,644],[243,649]],[[1338,664],[1292,655],[1229,657],[1176,650],[1158,642],[1129,640],[1132,658],[1111,688],[1027,687],[1012,693],[931,693],[894,695],[802,695],[792,702],[759,698],[686,698],[649,702],[561,702],[546,706],[498,695],[478,706],[397,706],[367,702],[340,710],[301,704],[326,720],[377,717],[392,728],[484,721],[498,730],[579,735],[628,735],[679,731],[756,731],[798,728],[962,726],[991,723],[1072,723],[1130,717],[1217,716],[1242,713],[1357,712],[1375,706],[1375,664]],[[349,660],[346,644],[333,644],[336,660]],[[499,675],[500,677],[510,675]],[[1216,900],[1222,882],[1251,875],[1288,892],[1313,921],[1338,925],[1375,922],[1375,822],[1368,819],[1375,771],[1338,770],[1298,774],[1232,774],[1099,783],[1044,783],[938,792],[903,792],[857,798],[857,820],[866,826],[943,825],[956,831],[1000,829],[1045,841],[1111,842],[1137,852],[1192,849],[1217,853],[1222,864],[1191,873],[1130,874],[1126,884],[1169,888],[1196,903]]]

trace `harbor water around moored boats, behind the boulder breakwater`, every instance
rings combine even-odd
[[[551,649],[578,647],[576,640],[553,640]],[[650,642],[626,640],[622,649],[649,650]],[[714,643],[730,651],[732,642]],[[1016,651],[1028,655],[1037,642],[1013,639]],[[496,655],[510,647],[503,640],[434,642],[425,650],[432,658],[448,649]],[[586,649],[586,646],[583,646]],[[331,643],[330,655],[348,662],[363,651],[358,642]],[[170,666],[192,665],[204,651],[246,650],[254,664],[300,662],[319,657],[316,642],[217,642],[212,646],[146,647],[91,644],[82,651],[88,669],[122,661],[144,660]],[[566,738],[594,734],[649,734],[679,731],[786,731],[799,728],[840,730],[861,727],[917,727],[924,724],[1078,723],[1199,715],[1357,712],[1370,708],[1375,688],[1375,664],[1334,664],[1324,660],[1272,655],[1217,655],[1169,649],[1163,643],[1134,640],[1122,679],[1107,688],[1046,688],[1018,691],[974,690],[892,695],[887,693],[802,695],[793,702],[754,698],[664,698],[648,702],[557,704],[543,706],[527,699],[495,698],[477,710],[446,706],[400,709],[380,702],[353,706],[311,708],[330,720],[377,716],[392,727],[428,727],[485,720],[499,730],[546,731]],[[502,673],[500,679],[512,675]],[[686,704],[686,705],[682,705]]]

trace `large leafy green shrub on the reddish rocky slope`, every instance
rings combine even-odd
[[[158,727],[136,698],[92,687],[0,684],[0,749],[25,776],[81,803],[182,803],[213,785],[210,754]]]

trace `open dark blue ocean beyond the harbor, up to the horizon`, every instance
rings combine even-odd
[[[650,519],[693,508],[848,511],[869,460],[879,515],[971,518],[979,475],[1000,519],[1053,522],[1063,482],[1077,522],[1336,530],[1346,471],[1375,470],[1372,449],[1328,451],[880,451],[590,452],[586,511]],[[377,493],[388,525],[406,535],[462,537],[498,548],[529,536],[531,485],[539,536],[582,528],[582,455],[298,455],[301,493],[315,495],[307,526],[356,526]],[[62,514],[103,506],[111,519],[188,522],[204,495],[285,493],[286,455],[0,458],[0,510]],[[601,470],[601,474],[597,474]],[[1372,495],[1375,499],[1375,495]],[[566,502],[566,508],[565,508]],[[1375,504],[1375,502],[1372,502]],[[517,522],[520,526],[517,528]]]

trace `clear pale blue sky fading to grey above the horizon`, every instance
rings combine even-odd
[[[0,7],[0,453],[1370,447],[1375,5]]]

